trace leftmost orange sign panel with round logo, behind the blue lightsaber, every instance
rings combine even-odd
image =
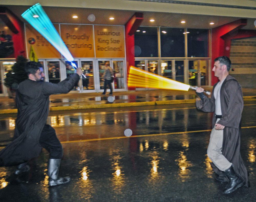
[[[54,24],[54,27],[58,31],[58,25]],[[36,31],[31,25],[26,23],[26,43],[28,49],[30,45],[33,45],[33,49],[36,52],[38,58],[60,58],[61,54],[56,48],[50,44],[38,31]]]

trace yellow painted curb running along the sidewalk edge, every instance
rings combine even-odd
[[[256,96],[243,97],[244,101],[255,101]],[[122,103],[108,103],[108,104],[91,104],[91,105],[71,105],[71,106],[51,106],[50,111],[64,111],[64,110],[79,110],[79,109],[99,109],[99,108],[113,108],[113,107],[129,107],[129,106],[152,106],[165,104],[191,104],[195,103],[196,99],[187,100],[165,100],[165,101],[148,101],[148,102],[122,102]],[[17,109],[3,109],[0,114],[17,113]]]

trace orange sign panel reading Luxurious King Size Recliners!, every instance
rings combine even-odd
[[[96,57],[125,57],[123,26],[94,26]]]

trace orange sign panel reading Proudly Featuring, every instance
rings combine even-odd
[[[94,57],[92,25],[60,25],[61,38],[73,57]]]

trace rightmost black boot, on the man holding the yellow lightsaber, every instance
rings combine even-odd
[[[245,181],[235,173],[232,165],[228,170],[225,170],[225,174],[229,179],[229,183],[223,194],[230,194],[245,184]]]

